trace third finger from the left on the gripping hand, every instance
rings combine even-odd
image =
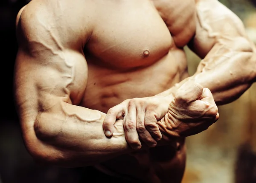
[[[145,112],[143,110],[137,109],[136,118],[136,129],[139,134],[140,139],[145,142],[149,147],[154,147],[157,145],[157,141],[151,136],[144,124]]]

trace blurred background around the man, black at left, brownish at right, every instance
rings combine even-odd
[[[220,0],[244,22],[256,42],[256,0]],[[0,1],[2,60],[0,113],[0,183],[76,183],[80,169],[39,166],[27,153],[15,111],[12,80],[17,53],[15,18],[29,0]],[[200,59],[185,48],[189,72]],[[256,183],[256,87],[237,101],[219,107],[220,119],[207,131],[187,139],[188,160],[183,183]],[[87,182],[87,181],[85,181]]]

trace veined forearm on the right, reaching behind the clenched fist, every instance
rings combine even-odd
[[[175,95],[184,82],[194,80],[211,90],[216,104],[227,104],[238,99],[254,82],[256,76],[256,54],[249,42],[218,43],[202,59],[198,69],[180,83],[160,95]],[[233,45],[233,48],[232,46]]]

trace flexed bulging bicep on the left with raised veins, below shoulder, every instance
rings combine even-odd
[[[31,56],[25,51],[17,53],[15,98],[21,115],[28,113],[27,110],[54,110],[55,103],[60,101],[79,102],[86,82],[85,59],[75,51],[47,56]]]

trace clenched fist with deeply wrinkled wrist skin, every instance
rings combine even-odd
[[[188,81],[177,90],[167,114],[157,124],[168,137],[186,137],[207,130],[218,118],[211,91]]]

